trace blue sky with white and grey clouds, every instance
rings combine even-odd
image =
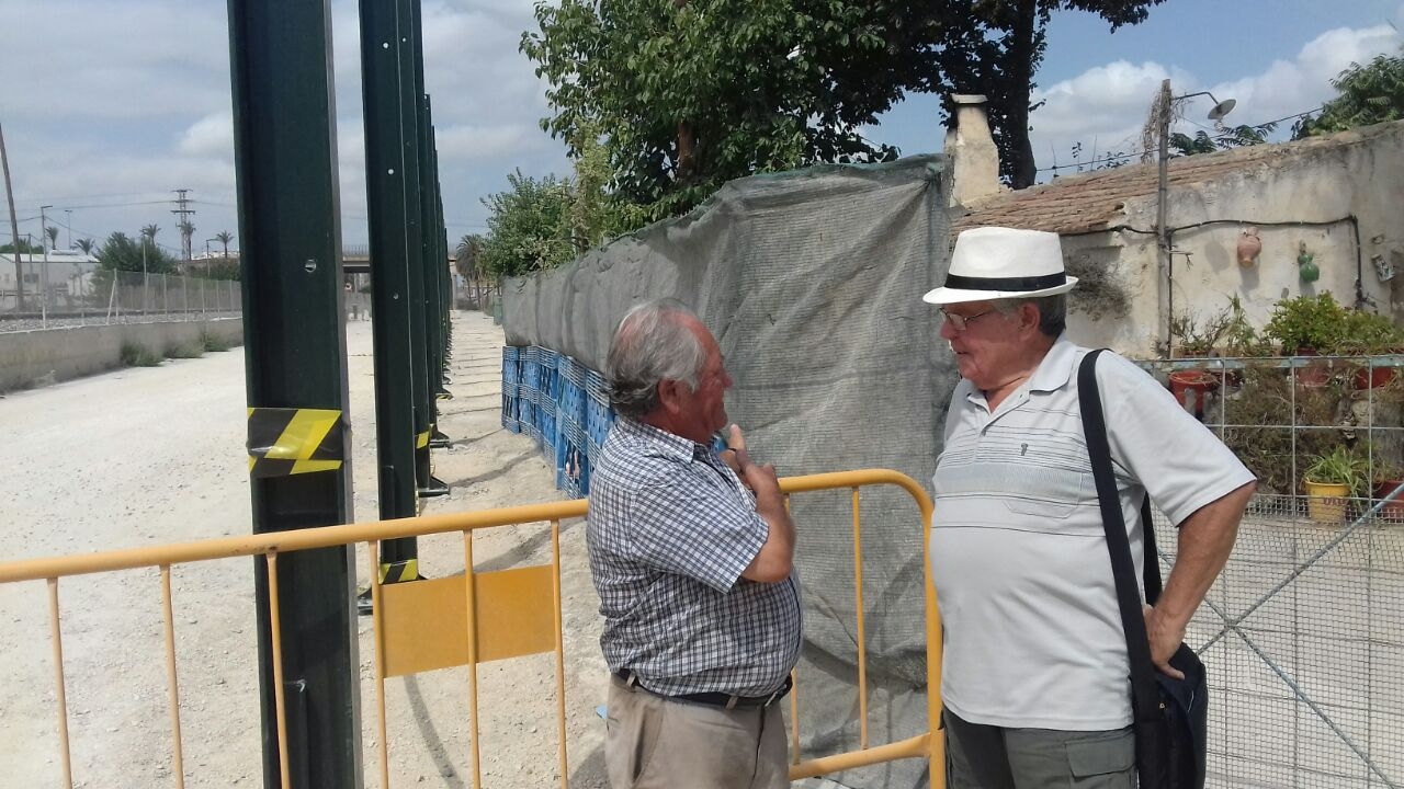
[[[486,230],[482,198],[507,174],[569,174],[559,140],[542,132],[546,84],[518,52],[535,29],[535,0],[423,0],[424,76],[434,105],[449,246]],[[355,0],[329,0],[341,174],[343,243],[366,243]],[[237,236],[229,22],[223,0],[3,0],[0,128],[20,234],[59,246],[157,225],[178,254],[176,190],[195,209],[192,247]],[[1031,139],[1040,180],[1140,152],[1140,128],[1164,79],[1175,95],[1234,98],[1231,125],[1314,110],[1352,62],[1396,53],[1404,0],[1167,0],[1141,25],[1111,34],[1098,17],[1054,14],[1036,76]],[[1207,97],[1177,104],[1175,131],[1212,131]],[[1276,138],[1285,139],[1292,121]],[[866,129],[904,154],[941,149],[931,95],[908,97]],[[0,204],[3,205],[3,204]],[[6,206],[7,208],[7,206]],[[0,216],[0,243],[10,240]],[[232,248],[237,248],[237,240]]]

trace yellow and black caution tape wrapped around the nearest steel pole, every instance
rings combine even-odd
[[[341,411],[249,409],[249,473],[281,477],[341,468]]]

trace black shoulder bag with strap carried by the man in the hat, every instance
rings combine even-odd
[[[1077,372],[1077,390],[1087,452],[1097,480],[1097,498],[1102,507],[1102,526],[1106,529],[1106,550],[1112,559],[1116,602],[1126,630],[1140,789],[1203,789],[1209,727],[1205,664],[1195,650],[1181,643],[1170,664],[1182,671],[1185,678],[1175,679],[1157,670],[1150,657],[1146,618],[1136,590],[1136,564],[1126,538],[1126,519],[1122,517],[1120,497],[1112,475],[1112,451],[1106,441],[1106,421],[1102,418],[1102,397],[1097,389],[1097,357],[1104,350],[1092,351],[1082,359]],[[1141,525],[1146,531],[1146,601],[1155,605],[1161,585],[1150,497],[1141,503]]]

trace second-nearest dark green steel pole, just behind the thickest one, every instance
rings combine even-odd
[[[371,327],[375,336],[375,431],[380,518],[416,514],[414,389],[410,365],[410,268],[406,168],[400,128],[400,35],[395,6],[361,0],[361,98],[371,232]],[[417,559],[414,538],[383,541],[380,564]],[[395,573],[404,577],[403,570]],[[417,567],[413,573],[418,574]]]

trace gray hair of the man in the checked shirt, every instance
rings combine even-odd
[[[609,404],[639,418],[658,409],[658,383],[677,380],[695,390],[706,365],[702,341],[685,319],[696,313],[674,299],[632,307],[615,327],[605,359]]]

